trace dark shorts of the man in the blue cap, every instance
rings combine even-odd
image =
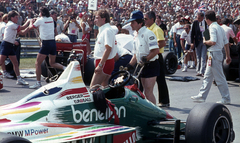
[[[144,65],[142,73],[140,75],[141,78],[150,78],[159,76],[160,65],[158,60],[152,61]]]

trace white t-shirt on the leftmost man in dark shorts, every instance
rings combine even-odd
[[[14,44],[17,32],[19,32],[20,26],[12,21],[8,21],[4,30],[3,41]]]

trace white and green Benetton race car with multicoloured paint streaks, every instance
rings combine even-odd
[[[155,106],[128,71],[111,76],[109,87],[90,91],[78,61],[57,81],[18,102],[0,106],[0,143],[7,142],[188,142],[234,140],[229,110],[222,104],[196,105],[187,121]]]

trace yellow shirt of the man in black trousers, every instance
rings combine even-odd
[[[156,35],[157,41],[165,40],[163,30],[159,26],[157,26],[156,23],[153,23],[152,26],[148,27],[148,29],[151,30]],[[159,53],[163,52],[164,47],[159,49]]]

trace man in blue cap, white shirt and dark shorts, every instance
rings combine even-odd
[[[153,94],[153,87],[159,75],[158,53],[159,47],[155,34],[144,25],[143,13],[139,10],[133,11],[127,22],[131,22],[131,27],[136,30],[134,39],[133,57],[127,67],[131,68],[135,63],[144,63],[141,73],[141,81],[146,98],[156,105]],[[155,18],[154,18],[155,20]]]

